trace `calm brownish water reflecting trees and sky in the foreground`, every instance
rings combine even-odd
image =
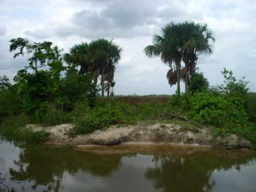
[[[256,192],[256,152],[249,150],[114,146],[78,151],[1,141],[0,172],[16,192]]]

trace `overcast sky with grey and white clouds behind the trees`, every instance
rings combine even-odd
[[[214,31],[214,54],[198,67],[210,85],[222,84],[224,67],[244,75],[256,92],[256,0],[0,0],[0,76],[13,78],[27,65],[13,59],[9,40],[52,41],[64,49],[96,38],[123,47],[115,74],[116,94],[172,94],[168,67],[143,53],[152,36],[170,21],[194,20]],[[183,85],[182,85],[183,87]]]

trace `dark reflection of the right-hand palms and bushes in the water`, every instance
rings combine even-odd
[[[147,169],[145,177],[152,180],[156,189],[164,192],[211,192],[215,185],[214,178],[211,178],[213,171],[240,169],[255,157],[241,156],[235,151],[225,152],[196,152],[168,157],[155,155],[155,166]]]

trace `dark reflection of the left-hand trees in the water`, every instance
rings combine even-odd
[[[29,181],[33,189],[38,185],[47,186],[47,191],[58,192],[63,189],[64,172],[75,175],[78,171],[92,175],[108,176],[118,169],[123,155],[95,155],[63,148],[26,146],[14,161],[18,169],[11,168],[9,173],[15,181]]]

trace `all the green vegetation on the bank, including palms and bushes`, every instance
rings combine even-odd
[[[234,133],[256,144],[256,94],[249,93],[248,82],[244,78],[237,80],[232,71],[224,68],[224,84],[211,87],[203,73],[195,72],[198,54],[212,53],[209,42],[215,39],[207,25],[170,23],[162,32],[162,36],[154,37],[153,46],[145,48],[145,53],[161,56],[171,67],[168,82],[178,83],[178,88],[174,95],[165,97],[113,96],[115,66],[122,49],[112,40],[81,43],[63,56],[62,50],[51,42],[11,40],[10,51],[18,51],[14,58],[27,54],[29,59],[13,84],[7,76],[0,78],[1,134],[39,141],[48,133],[33,133],[20,127],[29,123],[74,123],[70,134],[76,135],[115,124],[179,119],[190,125],[212,126],[216,135]],[[182,79],[186,93],[180,93]],[[112,97],[102,99],[99,91],[102,97],[105,92]]]

